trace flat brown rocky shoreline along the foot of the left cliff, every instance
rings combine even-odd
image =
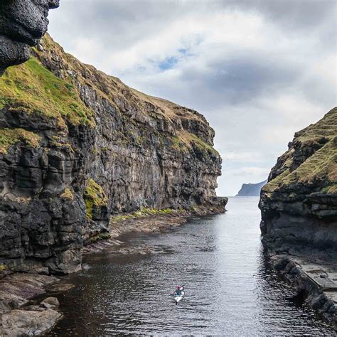
[[[191,211],[170,210],[151,213],[129,213],[114,215],[109,224],[109,238],[98,235],[95,242],[82,247],[82,254],[114,250],[124,242],[118,240],[132,232],[164,232],[186,223],[189,218],[225,213],[223,206],[211,208],[198,206]],[[104,233],[103,233],[104,234]],[[123,250],[121,254],[139,252],[137,249]],[[147,254],[148,252],[145,252]],[[43,274],[0,271],[0,336],[40,335],[50,331],[62,319],[58,300],[53,297],[69,289],[62,277]],[[44,301],[50,303],[44,303]]]

